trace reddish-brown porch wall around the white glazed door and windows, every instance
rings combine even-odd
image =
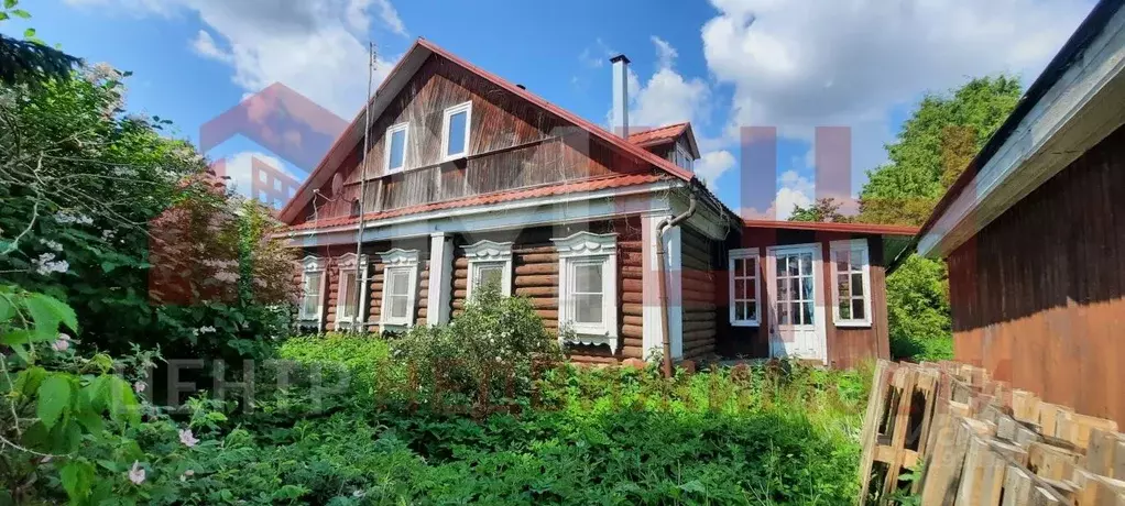
[[[870,327],[837,327],[832,322],[831,265],[828,263],[829,245],[832,241],[866,238],[871,263],[871,309]],[[865,360],[890,358],[886,324],[886,278],[882,240],[879,236],[793,231],[776,228],[744,228],[741,235],[732,234],[723,249],[721,275],[716,284],[718,300],[719,353],[724,356],[766,358],[770,356],[770,311],[773,307],[766,290],[765,262],[758,262],[759,297],[762,297],[762,324],[757,327],[735,327],[730,325],[730,281],[727,272],[730,249],[757,247],[759,257],[766,255],[766,247],[794,244],[819,243],[824,256],[821,291],[826,297],[825,337],[828,344],[828,363],[834,368],[852,368]]]

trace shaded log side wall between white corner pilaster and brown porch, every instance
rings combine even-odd
[[[681,233],[681,244],[683,245],[681,255],[683,352],[684,359],[699,359],[716,351],[718,335],[717,278],[727,270],[718,266],[718,250],[722,243],[710,241],[695,231],[684,227]]]

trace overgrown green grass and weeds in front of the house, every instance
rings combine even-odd
[[[364,379],[323,409],[264,403],[242,421],[252,430],[225,435],[213,476],[230,477],[233,497],[277,484],[332,504],[844,504],[857,493],[864,371],[771,363],[666,380],[565,365],[532,398],[508,399],[512,413],[487,415],[382,397],[402,374],[380,372],[395,367],[381,340],[317,340],[280,353]]]

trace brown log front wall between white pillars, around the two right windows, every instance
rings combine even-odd
[[[459,235],[453,249],[453,317],[465,311],[468,290],[469,262],[464,246],[480,240],[513,242],[512,288],[513,293],[526,297],[536,314],[551,333],[558,332],[559,302],[559,257],[552,237],[565,237],[584,228],[555,229],[534,227],[511,233]],[[618,304],[621,308],[619,323],[619,350],[610,354],[604,346],[574,349],[570,360],[579,363],[614,363],[624,359],[641,358],[641,243],[640,220],[636,217],[613,222],[588,224],[594,233],[618,234]]]

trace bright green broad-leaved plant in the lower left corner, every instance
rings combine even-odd
[[[65,332],[78,332],[70,306],[0,287],[0,481],[7,490],[0,503],[39,496],[51,484],[73,503],[90,499],[96,466],[112,461],[94,462],[82,450],[141,423],[134,387],[114,373],[112,359],[78,356]],[[114,457],[130,452],[140,450],[126,445]]]

